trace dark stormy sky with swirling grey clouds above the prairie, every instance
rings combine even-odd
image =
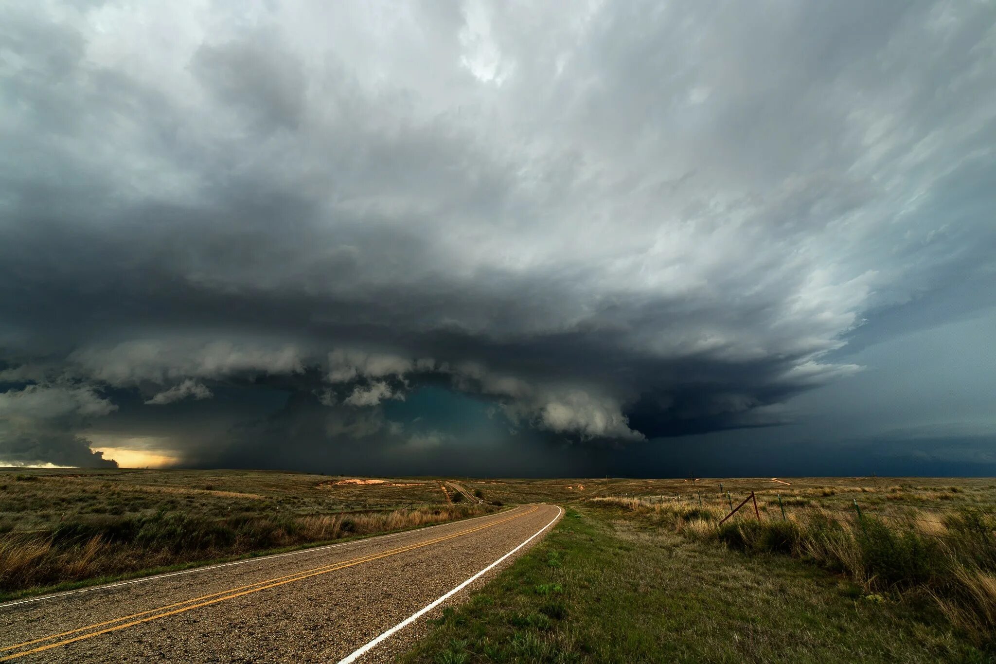
[[[0,464],[996,475],[992,3],[8,2],[0,140]]]

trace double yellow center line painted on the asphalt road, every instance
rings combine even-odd
[[[459,533],[452,533],[450,535],[444,535],[438,538],[434,538],[432,540],[426,540],[425,542],[419,542],[414,545],[398,547],[396,549],[391,549],[381,553],[371,553],[369,555],[362,555],[360,557],[356,557],[350,560],[345,560],[343,562],[335,562],[320,567],[313,567],[311,569],[297,571],[294,572],[293,574],[285,574],[284,576],[275,576],[273,578],[268,578],[263,581],[250,583],[249,585],[242,585],[236,588],[229,588],[227,590],[221,590],[220,592],[212,592],[211,594],[201,595],[199,597],[193,597],[192,599],[186,599],[184,601],[175,602],[173,604],[166,604],[164,606],[150,608],[147,611],[131,613],[130,615],[124,615],[120,618],[115,618],[114,620],[106,620],[105,622],[96,622],[92,625],[87,625],[86,627],[78,627],[76,629],[71,629],[69,631],[60,632],[59,634],[52,634],[50,636],[34,639],[32,641],[24,641],[23,643],[17,643],[14,645],[0,647],[0,652],[6,652],[8,650],[17,650],[19,648],[26,648],[28,646],[35,645],[37,643],[51,641],[52,639],[58,639],[64,636],[70,637],[63,639],[61,641],[56,641],[54,643],[47,643],[45,645],[41,645],[36,648],[32,648],[30,650],[24,650],[22,652],[5,655],[3,657],[0,657],[0,662],[6,662],[11,659],[17,659],[18,657],[24,657],[25,655],[31,655],[34,653],[43,652],[45,650],[49,650],[50,648],[57,648],[61,645],[69,645],[70,643],[83,641],[84,639],[93,638],[95,636],[100,636],[101,634],[107,634],[109,632],[115,632],[118,631],[119,629],[124,629],[125,627],[131,627],[133,625],[149,622],[151,620],[158,620],[159,618],[164,618],[166,616],[176,615],[177,613],[183,613],[185,611],[189,611],[194,608],[199,608],[201,606],[217,604],[218,602],[225,601],[226,599],[234,599],[235,597],[241,597],[243,595],[251,594],[253,592],[259,592],[261,590],[275,588],[278,585],[293,583],[294,581],[300,581],[305,578],[311,578],[312,576],[319,576],[321,574],[328,574],[330,572],[337,571],[339,569],[345,569],[346,567],[352,567],[358,564],[363,564],[365,562],[378,560],[382,557],[387,557],[388,555],[396,555],[397,553],[405,553],[405,552],[414,551],[415,549],[429,547],[431,545],[439,544],[440,542],[445,542],[446,540],[452,540],[453,538],[459,538],[464,535],[470,535],[471,533],[477,533],[479,531],[483,531],[488,528],[493,528],[494,526],[505,524],[514,519],[519,519],[520,517],[525,517],[528,514],[532,514],[538,509],[539,509],[538,507],[534,506],[529,510],[526,510],[525,512],[522,512],[520,514],[505,517],[497,521],[488,522],[483,526],[476,526],[474,528],[460,531]],[[101,629],[102,627],[103,629]],[[76,636],[72,636],[73,634],[76,634]]]

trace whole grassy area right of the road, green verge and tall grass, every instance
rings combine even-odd
[[[404,661],[996,661],[994,499],[990,479],[611,484]]]

